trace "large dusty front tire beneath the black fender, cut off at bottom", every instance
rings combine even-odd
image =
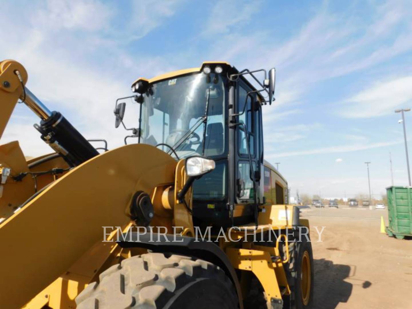
[[[238,307],[232,281],[204,260],[163,253],[125,259],[76,297],[78,309]]]

